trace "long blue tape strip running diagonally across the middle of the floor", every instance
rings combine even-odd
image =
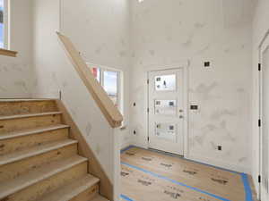
[[[162,179],[162,180],[168,180],[168,181],[170,181],[170,182],[172,182],[172,183],[174,183],[174,184],[177,184],[177,185],[180,185],[180,186],[183,186],[183,187],[186,187],[186,188],[193,189],[193,190],[195,190],[195,191],[197,191],[197,192],[200,192],[200,193],[203,193],[203,194],[205,194],[205,195],[207,195],[207,196],[214,197],[214,198],[217,198],[217,199],[222,200],[222,201],[230,201],[229,199],[226,199],[226,198],[223,198],[223,197],[219,197],[219,196],[215,196],[215,195],[213,195],[212,193],[208,193],[208,192],[206,192],[206,191],[204,191],[204,190],[201,190],[201,189],[199,189],[199,188],[195,188],[195,187],[187,186],[186,184],[181,183],[181,182],[178,182],[177,180],[171,180],[171,179],[169,179],[169,178],[167,178],[167,177],[161,176],[161,175],[156,174],[156,173],[154,173],[154,172],[150,172],[150,171],[144,170],[144,169],[139,168],[139,167],[136,167],[136,166],[134,166],[134,165],[132,165],[132,164],[123,163],[123,162],[122,162],[122,164],[125,164],[125,165],[128,166],[128,167],[134,168],[135,170],[138,170],[138,171],[141,171],[141,172],[145,172],[145,173],[151,174],[153,177],[157,177],[157,178],[160,178],[160,179]],[[247,200],[247,201],[248,201],[248,200]]]

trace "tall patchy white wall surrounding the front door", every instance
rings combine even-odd
[[[134,144],[147,147],[148,67],[189,60],[189,103],[199,105],[200,110],[189,112],[189,151],[185,155],[251,172],[252,26],[246,1],[132,2],[130,91],[136,106],[131,108],[130,131],[137,130]],[[212,63],[211,68],[204,68],[206,61]]]

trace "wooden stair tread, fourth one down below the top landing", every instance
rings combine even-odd
[[[41,180],[46,180],[59,172],[72,168],[74,165],[86,162],[88,159],[79,155],[74,155],[68,159],[59,160],[53,163],[45,164],[29,173],[22,174],[14,180],[8,180],[0,184],[0,199],[8,197],[23,188],[30,187]]]

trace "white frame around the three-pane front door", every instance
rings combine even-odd
[[[189,103],[188,103],[188,67],[189,63],[188,61],[186,63],[178,63],[178,64],[172,64],[172,65],[164,65],[161,66],[160,64],[158,65],[151,65],[147,67],[147,80],[149,80],[149,73],[151,71],[167,71],[167,70],[176,70],[176,69],[183,69],[183,82],[184,82],[184,122],[183,122],[183,127],[184,127],[184,153],[183,155],[188,158],[188,153],[189,153],[189,142],[188,142],[188,108],[189,108]],[[147,85],[147,108],[149,108],[149,84]],[[149,130],[149,113],[147,113],[147,138],[149,138],[150,130]],[[149,141],[147,141],[147,147],[149,148]]]

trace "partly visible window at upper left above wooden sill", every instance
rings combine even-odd
[[[0,48],[7,48],[7,0],[0,0]]]

